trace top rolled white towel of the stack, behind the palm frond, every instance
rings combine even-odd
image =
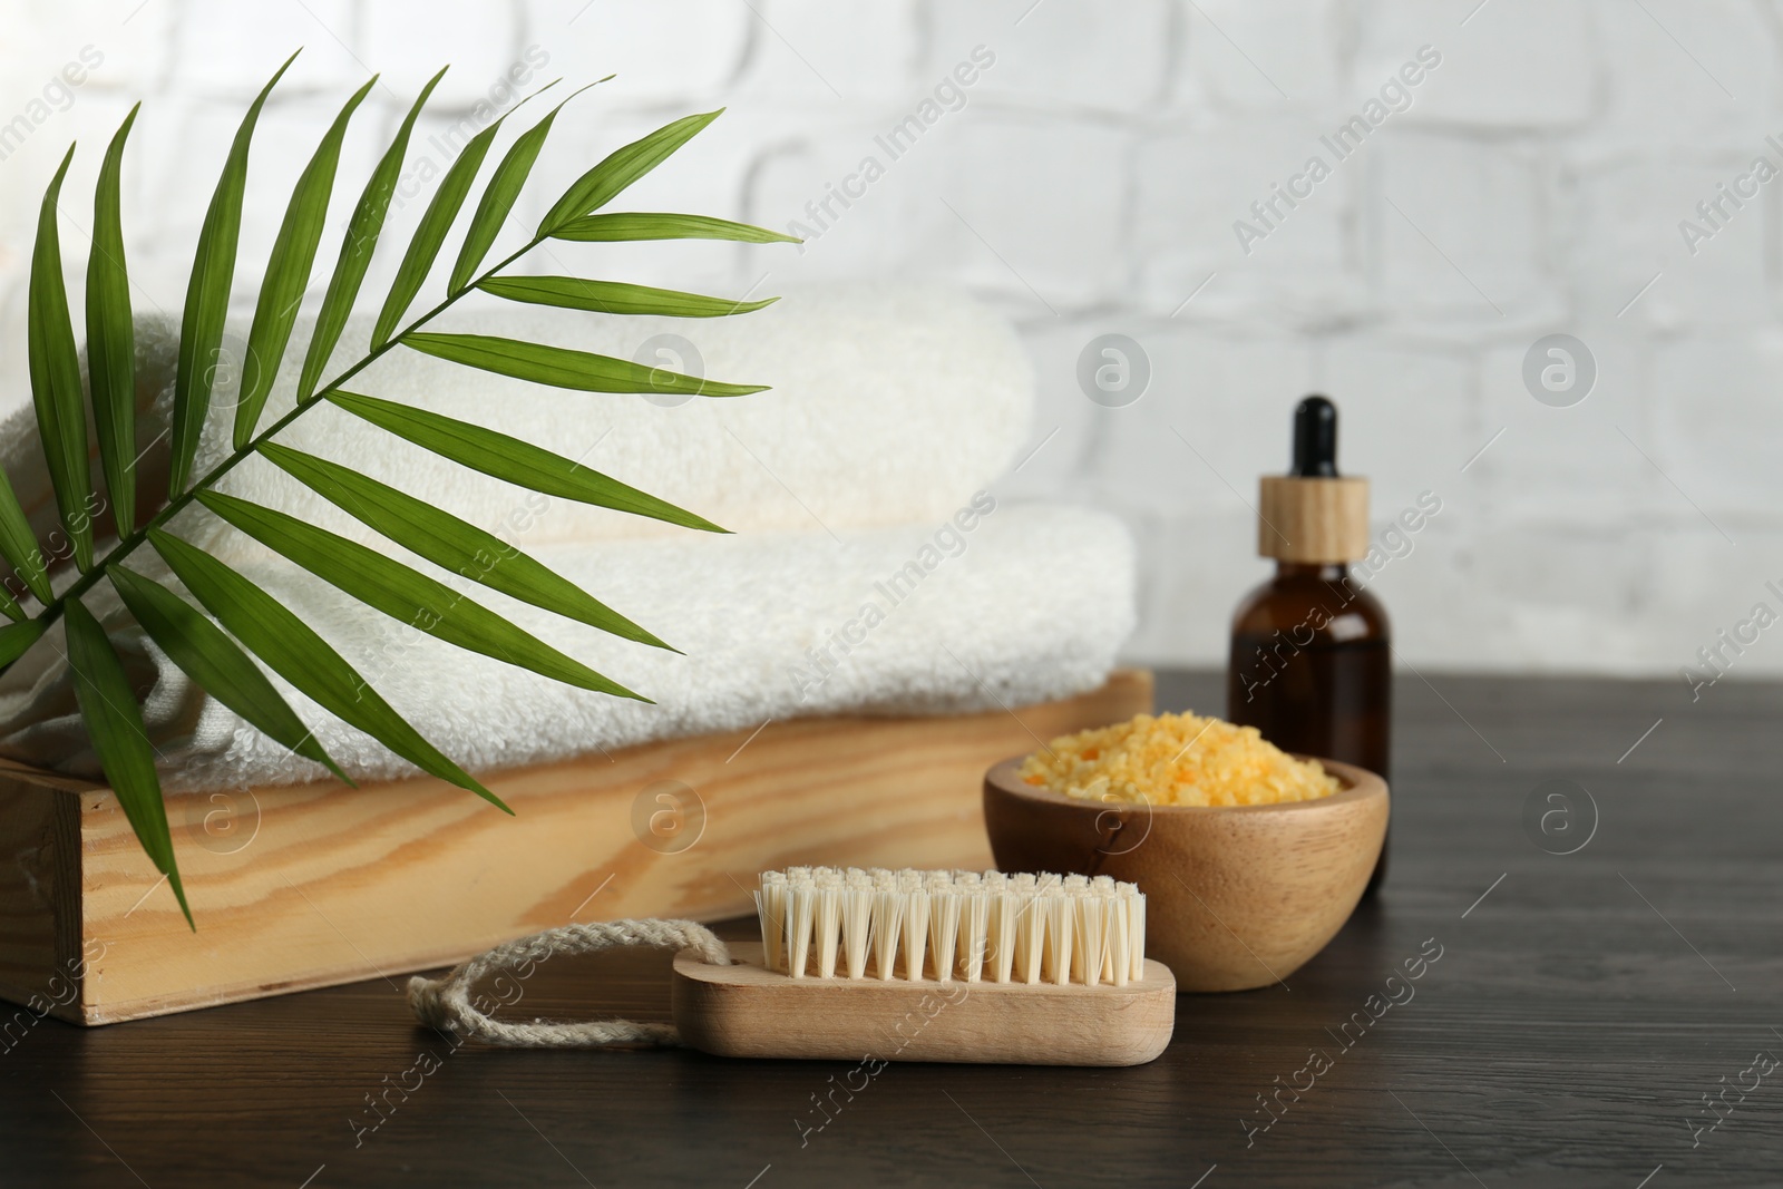
[[[661,346],[672,335],[692,344],[703,376],[772,385],[751,396],[661,406],[645,396],[565,392],[508,380],[405,348],[348,385],[579,458],[736,533],[938,522],[1011,463],[1032,410],[1032,369],[1007,321],[936,287],[806,289],[754,314],[713,319],[613,317],[487,298],[428,330],[647,358],[670,371],[690,367],[685,346]],[[308,332],[300,323],[262,426],[291,410]],[[349,323],[325,376],[362,355],[369,335],[369,321]],[[223,353],[198,474],[230,453],[239,342],[230,337]],[[150,490],[166,483],[177,353],[169,324],[148,321],[139,328],[137,442],[146,451],[141,467],[155,476]],[[537,515],[522,488],[446,462],[333,406],[303,414],[278,440],[380,478],[522,547],[688,535],[660,521],[572,501],[553,501],[549,513]],[[46,537],[55,508],[30,406],[0,424],[0,465],[39,538]],[[94,483],[102,483],[96,462]],[[239,465],[218,490],[382,547],[376,533],[260,458]],[[100,519],[102,533],[109,522]],[[182,517],[178,528],[225,560],[269,556],[201,510]]]

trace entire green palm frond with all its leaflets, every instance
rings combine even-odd
[[[12,565],[34,601],[41,604],[36,610],[27,610],[0,586],[0,613],[11,620],[0,626],[0,667],[16,661],[55,619],[64,620],[77,702],[93,738],[94,752],[137,840],[168,877],[187,922],[193,916],[173,856],[160,783],[155,774],[155,752],[143,724],[143,713],[105,629],[82,604],[82,595],[102,579],[111,581],[143,631],[198,686],[294,754],[326,765],[342,779],[346,775],[316,743],[303,720],[266,677],[255,658],[323,709],[366,731],[421,770],[471,790],[506,811],[508,808],[494,793],[421,738],[298,615],[237,570],[177,537],[169,531],[169,521],[196,501],[349,597],[458,647],[485,652],[587,690],[615,697],[640,697],[522,631],[496,611],[376,549],[367,549],[283,512],[225,496],[212,487],[241,462],[251,456],[264,458],[426,562],[626,640],[667,649],[667,644],[638,624],[485,529],[346,467],[280,446],[273,439],[287,424],[326,401],[360,417],[367,433],[390,433],[407,439],[444,458],[510,483],[694,529],[724,531],[692,512],[528,442],[440,414],[353,392],[346,385],[376,358],[403,348],[501,376],[585,392],[670,390],[711,398],[758,392],[761,385],[683,376],[587,351],[487,335],[430,333],[423,328],[472,291],[506,301],[606,314],[678,317],[745,314],[768,301],[727,301],[581,276],[514,276],[506,275],[506,269],[538,244],[553,239],[583,242],[651,239],[795,242],[776,232],[706,216],[601,212],[628,185],[661,164],[719,116],[719,112],[706,112],[676,119],[610,153],[556,200],[519,250],[485,267],[489,253],[526,185],[533,162],[546,144],[551,125],[562,111],[560,103],[522,132],[496,164],[451,266],[444,298],[426,312],[408,317],[440,257],[453,223],[471,196],[481,164],[506,119],[503,116],[476,134],[446,171],[401,257],[367,349],[325,383],[323,371],[335,355],[378,246],[398,173],[408,150],[410,132],[433,87],[446,73],[440,70],[408,109],[353,209],[303,357],[296,405],[278,421],[262,428],[260,414],[285,357],[298,307],[310,285],[328,200],[335,184],[341,143],[355,109],[376,82],[373,78],[341,109],[298,178],[285,209],[248,332],[248,367],[241,378],[234,415],[234,453],[209,472],[193,474],[200,435],[210,412],[214,369],[207,364],[218,357],[223,342],[223,323],[235,276],[248,148],[260,109],[289,66],[291,61],[280,66],[248,107],[198,235],[180,326],[171,476],[160,512],[137,528],[134,340],[130,280],[119,221],[119,173],[136,109],[112,137],[100,169],[86,299],[93,426],[98,439],[100,469],[109,488],[111,515],[118,526],[118,545],[103,558],[94,560],[93,508],[102,504],[96,503],[87,469],[87,394],[82,390],[55,217],[73,146],[70,146],[68,157],[62,159],[43,198],[29,291],[32,401],[61,526],[68,535],[78,569],[78,576],[59,595],[50,586],[48,565],[32,537],[14,488],[0,474],[0,556]],[[408,317],[407,323],[405,317]],[[159,492],[144,497],[148,496],[159,497]],[[143,545],[160,554],[191,601],[144,576],[139,569],[130,569],[127,563],[130,554]],[[492,558],[499,562],[490,563]]]

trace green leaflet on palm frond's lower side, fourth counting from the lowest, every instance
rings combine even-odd
[[[430,636],[439,636],[471,652],[494,656],[497,661],[531,668],[565,685],[631,697],[640,702],[649,701],[553,649],[489,608],[465,599],[446,583],[419,574],[401,562],[392,562],[357,540],[234,496],[203,492],[198,496],[198,503],[366,606],[419,627]]]

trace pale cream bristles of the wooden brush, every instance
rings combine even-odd
[[[793,866],[756,891],[761,955],[793,979],[1127,986],[1145,895],[1107,875]]]

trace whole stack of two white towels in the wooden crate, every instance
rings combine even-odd
[[[337,408],[312,410],[280,435],[526,547],[685,656],[440,574],[259,460],[223,483],[435,572],[654,706],[440,644],[351,603],[201,508],[175,521],[180,535],[303,615],[472,772],[797,715],[941,713],[1064,697],[1107,676],[1132,627],[1132,545],[1116,521],[995,496],[993,480],[1025,435],[1032,380],[1007,326],[981,307],[925,289],[847,289],[711,323],[501,308],[467,314],[455,328],[626,358],[656,339],[685,360],[690,342],[703,374],[774,385],[663,406],[542,389],[407,351],[353,385],[562,455],[583,453],[587,465],[735,537],[546,499],[408,447]],[[346,342],[362,348],[364,332],[349,328]],[[166,426],[173,346],[153,326],[139,340],[144,442]],[[207,426],[200,469],[226,453],[228,396],[225,389]],[[289,403],[285,374],[266,417]],[[46,485],[30,487],[41,451],[36,460],[30,451],[29,421],[14,421],[0,437],[0,460],[20,476],[21,496],[43,501]],[[150,551],[134,563],[166,579]],[[114,642],[148,690],[144,718],[169,786],[321,775],[194,688],[116,604],[103,595],[89,595],[89,604],[111,611]],[[355,777],[414,772],[273,681]],[[0,754],[98,775],[61,649],[39,647],[0,679]]]

